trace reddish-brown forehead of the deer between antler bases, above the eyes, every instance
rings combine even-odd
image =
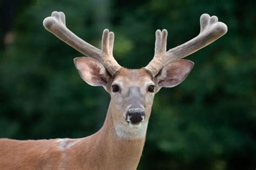
[[[122,82],[128,84],[140,84],[146,81],[152,81],[152,75],[145,69],[127,69],[121,68],[114,78],[114,82]]]

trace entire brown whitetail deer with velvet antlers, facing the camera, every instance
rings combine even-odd
[[[181,60],[227,32],[215,16],[200,17],[196,38],[166,51],[167,31],[156,31],[153,60],[141,69],[127,69],[113,58],[114,33],[104,30],[102,50],[78,38],[65,24],[63,12],[45,18],[46,30],[89,57],[75,58],[82,79],[103,86],[111,95],[103,127],[86,138],[0,140],[0,169],[136,169],[142,155],[154,95],[174,87],[194,63]]]

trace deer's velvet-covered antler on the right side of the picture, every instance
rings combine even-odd
[[[203,14],[200,17],[201,31],[199,35],[186,43],[170,49],[166,52],[167,31],[156,31],[156,44],[154,48],[154,58],[145,67],[155,76],[168,63],[182,59],[199,49],[211,44],[227,32],[227,26],[218,22],[216,16],[210,17]]]

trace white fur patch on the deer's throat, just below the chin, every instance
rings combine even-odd
[[[114,127],[117,132],[117,136],[123,139],[138,139],[145,138],[147,132],[147,124],[149,122],[143,122],[140,125],[128,125],[123,122],[119,122]]]

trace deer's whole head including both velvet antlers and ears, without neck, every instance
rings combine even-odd
[[[141,69],[127,69],[113,57],[113,32],[103,31],[100,50],[68,30],[63,12],[52,12],[43,24],[46,30],[88,56],[75,58],[76,68],[85,82],[91,86],[103,86],[111,95],[111,117],[114,126],[118,127],[117,131],[133,131],[140,127],[146,131],[154,95],[162,87],[177,86],[193,68],[192,61],[182,58],[211,44],[227,32],[227,26],[218,22],[217,17],[203,14],[200,17],[199,35],[166,51],[167,31],[157,30],[152,61]]]

